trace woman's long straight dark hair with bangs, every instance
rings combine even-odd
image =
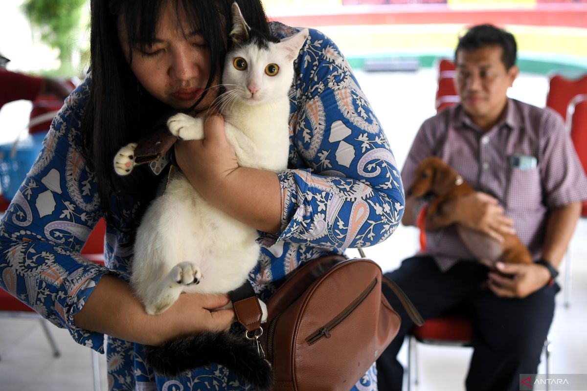
[[[95,172],[102,209],[107,221],[119,229],[132,229],[144,208],[153,199],[158,182],[149,169],[139,166],[131,175],[114,173],[114,154],[129,142],[139,141],[170,111],[140,85],[130,70],[120,46],[117,21],[123,18],[131,46],[146,47],[154,42],[158,19],[168,1],[183,9],[193,28],[203,33],[210,50],[210,77],[221,69],[231,29],[234,0],[92,0],[90,30],[90,95],[82,118],[82,140],[86,162]],[[249,26],[269,31],[260,0],[238,0]],[[178,18],[180,13],[178,12]],[[179,23],[179,22],[178,22]],[[220,66],[220,67],[219,67]],[[133,196],[141,208],[128,221],[114,219],[117,199]],[[116,205],[114,205],[116,204]]]

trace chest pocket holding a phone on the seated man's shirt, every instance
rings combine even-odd
[[[508,209],[536,209],[542,202],[540,170],[510,168],[505,202]]]

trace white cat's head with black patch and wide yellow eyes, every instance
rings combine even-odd
[[[232,4],[232,47],[222,73],[227,94],[247,104],[283,97],[294,78],[294,60],[308,37],[303,29],[281,41],[251,29],[237,3]]]

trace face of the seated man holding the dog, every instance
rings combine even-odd
[[[481,128],[500,120],[508,88],[519,72],[515,65],[505,69],[501,56],[501,46],[493,45],[457,52],[455,87],[464,110]]]

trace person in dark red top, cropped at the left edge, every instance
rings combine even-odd
[[[70,87],[58,80],[10,72],[6,70],[6,64],[9,61],[0,55],[0,108],[15,100],[32,101],[44,94],[54,95],[63,100],[72,91]]]

